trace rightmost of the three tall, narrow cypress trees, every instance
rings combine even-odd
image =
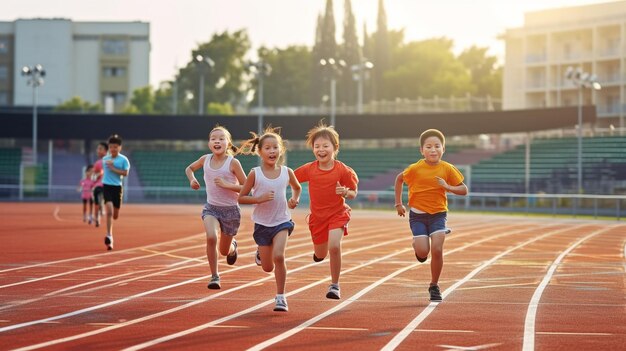
[[[383,0],[378,0],[378,27],[374,34],[374,98],[387,97],[385,94],[384,73],[389,68],[391,54],[389,52],[389,32],[387,30],[387,13]]]

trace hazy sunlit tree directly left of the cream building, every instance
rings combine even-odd
[[[498,59],[487,54],[488,48],[472,46],[459,55],[459,60],[470,72],[475,94],[481,97],[502,96],[502,67]]]

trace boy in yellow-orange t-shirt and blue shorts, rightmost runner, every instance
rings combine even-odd
[[[467,195],[463,175],[452,164],[441,160],[446,139],[436,129],[428,129],[420,135],[420,153],[423,159],[398,174],[395,183],[396,210],[404,217],[402,183],[409,188],[409,225],[413,233],[413,249],[419,262],[432,253],[430,271],[432,280],[428,288],[430,301],[441,301],[439,276],[443,269],[443,242],[450,229],[446,227],[448,199],[446,192]],[[430,240],[428,240],[430,238]]]

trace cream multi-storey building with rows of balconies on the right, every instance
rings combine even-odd
[[[504,109],[577,105],[565,72],[580,67],[602,85],[583,89],[583,104],[596,105],[600,125],[624,127],[626,1],[530,12],[504,39]]]

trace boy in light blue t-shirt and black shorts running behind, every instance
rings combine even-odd
[[[120,151],[122,151],[122,138],[113,134],[109,137],[109,155],[102,158],[104,164],[102,190],[107,212],[107,234],[104,237],[104,244],[108,250],[113,250],[113,220],[117,220],[122,207],[124,195],[122,180],[128,176],[130,170],[128,158]]]

